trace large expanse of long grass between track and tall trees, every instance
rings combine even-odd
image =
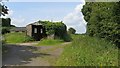
[[[85,35],[73,36],[56,62],[56,66],[117,66],[118,49],[104,39]]]

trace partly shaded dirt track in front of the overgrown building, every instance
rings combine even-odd
[[[8,44],[8,53],[3,56],[3,66],[51,66],[59,58],[63,47],[70,42],[56,46],[35,46],[35,43]]]

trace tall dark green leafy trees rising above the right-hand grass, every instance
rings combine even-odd
[[[87,2],[82,13],[88,22],[87,34],[120,44],[120,2]],[[119,46],[118,46],[119,47]]]

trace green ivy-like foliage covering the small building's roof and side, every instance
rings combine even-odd
[[[66,25],[61,22],[50,22],[50,21],[38,21],[44,25],[47,35],[55,35],[55,38],[62,39],[64,41],[70,41],[70,36],[67,34]]]

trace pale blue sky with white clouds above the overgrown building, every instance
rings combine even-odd
[[[75,28],[76,33],[86,32],[87,23],[81,12],[82,6],[85,4],[84,0],[79,0],[80,2],[67,2],[67,0],[66,2],[62,2],[62,0],[61,2],[17,1],[19,2],[15,0],[5,2],[9,8],[9,14],[6,17],[10,17],[11,23],[17,27],[25,27],[38,20],[52,20],[63,21],[67,28]]]

